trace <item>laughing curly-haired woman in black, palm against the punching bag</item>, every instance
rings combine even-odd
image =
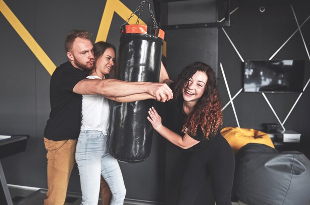
[[[170,129],[161,124],[154,107],[148,119],[161,136],[191,151],[177,204],[192,205],[209,175],[216,205],[231,205],[235,160],[220,134],[223,116],[214,71],[203,62],[195,62],[185,67],[173,84],[174,101],[169,103],[167,115]]]

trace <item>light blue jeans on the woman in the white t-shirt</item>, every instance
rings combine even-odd
[[[81,131],[75,160],[80,173],[81,205],[98,205],[101,175],[112,193],[110,205],[124,204],[126,188],[118,162],[109,154],[107,135],[94,130]]]

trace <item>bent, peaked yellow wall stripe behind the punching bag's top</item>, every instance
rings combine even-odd
[[[106,41],[107,35],[112,23],[113,14],[116,12],[125,21],[132,14],[132,11],[120,0],[106,0],[105,7],[103,10],[103,17],[100,22],[96,42]],[[138,16],[134,15],[130,20],[129,24],[135,24]],[[139,24],[146,25],[146,23],[140,19]],[[117,31],[119,32],[119,31]],[[162,54],[166,57],[166,42],[163,42]]]

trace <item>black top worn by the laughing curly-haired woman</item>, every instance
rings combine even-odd
[[[174,86],[174,83],[170,86],[171,88]],[[181,135],[182,137],[185,135],[182,132],[182,128],[184,125],[184,122],[186,120],[187,115],[183,111],[183,97],[181,96],[177,102],[171,101],[168,102],[168,111],[167,111],[167,119],[168,119],[168,128],[172,130],[173,132],[177,133],[178,135]],[[200,143],[194,145],[193,147],[186,149],[185,151],[191,152],[191,151],[197,151],[202,150],[206,148],[213,139],[220,134],[220,129],[217,131],[217,133],[212,136],[209,135],[208,138],[205,137],[205,134],[201,128],[201,126],[198,126],[196,135],[188,135],[192,137],[193,139],[200,141]],[[182,149],[183,150],[183,149]]]

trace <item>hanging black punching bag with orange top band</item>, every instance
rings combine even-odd
[[[156,27],[121,28],[116,78],[130,82],[158,82],[164,32]],[[119,161],[140,162],[151,152],[153,127],[147,119],[154,100],[113,102],[110,154]]]

